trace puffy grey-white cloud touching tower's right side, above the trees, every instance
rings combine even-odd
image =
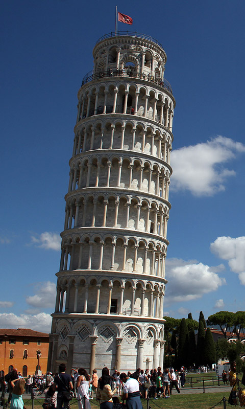
[[[168,259],[166,260],[166,301],[184,302],[197,300],[204,294],[216,291],[219,286],[226,284],[224,278],[197,260]]]

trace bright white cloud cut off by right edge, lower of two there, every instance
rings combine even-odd
[[[245,285],[245,237],[218,237],[210,244],[211,252],[220,259],[228,260],[231,271],[238,274],[242,285]]]

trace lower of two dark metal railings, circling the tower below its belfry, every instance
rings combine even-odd
[[[139,78],[145,81],[150,81],[153,82],[154,84],[157,84],[161,86],[164,89],[167,89],[171,94],[172,88],[170,83],[164,78],[162,80],[161,78],[154,77],[153,75],[150,74],[145,74],[145,73],[136,73],[131,69],[128,70],[118,70],[118,69],[109,69],[108,71],[102,71],[100,73],[93,74],[92,71],[89,71],[83,78],[81,86],[86,84],[87,82],[93,81],[95,79],[100,79],[100,78],[108,78],[108,77],[130,77],[130,78]]]

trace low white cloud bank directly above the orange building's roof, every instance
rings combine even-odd
[[[40,312],[36,315],[13,313],[0,314],[1,328],[29,328],[34,331],[50,332],[52,317],[45,312]]]

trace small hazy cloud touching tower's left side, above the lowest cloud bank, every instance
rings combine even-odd
[[[37,308],[55,308],[56,300],[56,285],[51,281],[35,284],[37,293],[34,296],[26,298],[27,304],[34,307],[34,311]],[[32,311],[32,310],[30,310]]]

